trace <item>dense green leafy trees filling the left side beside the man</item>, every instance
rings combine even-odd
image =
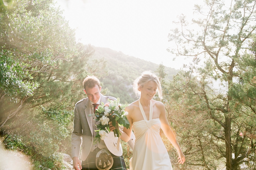
[[[61,168],[54,163],[57,151],[66,138],[70,145],[74,105],[84,97],[85,66],[94,51],[76,43],[52,0],[2,7],[1,137],[6,148],[31,156],[35,168]]]

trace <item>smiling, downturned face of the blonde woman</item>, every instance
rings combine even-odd
[[[140,97],[151,100],[156,94],[157,84],[154,81],[148,81],[145,85],[139,88]]]

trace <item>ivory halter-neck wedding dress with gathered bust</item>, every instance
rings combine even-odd
[[[131,170],[172,170],[168,152],[159,134],[161,122],[152,119],[153,106],[150,100],[149,120],[147,120],[139,100],[140,112],[144,120],[133,122],[135,144],[130,160]]]

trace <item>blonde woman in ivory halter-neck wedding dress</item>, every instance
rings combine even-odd
[[[140,93],[140,99],[126,107],[129,113],[127,118],[132,128],[124,128],[122,140],[129,141],[132,129],[135,135],[135,144],[130,160],[131,170],[170,170],[170,157],[160,137],[160,128],[165,136],[177,149],[178,162],[185,162],[185,155],[170,128],[165,115],[164,104],[152,100],[156,92],[162,99],[162,89],[159,79],[154,73],[144,71],[133,83],[135,93]]]

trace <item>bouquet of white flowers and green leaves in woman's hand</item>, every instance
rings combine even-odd
[[[96,136],[93,140],[94,143],[104,140],[106,133],[110,132],[109,124],[112,122],[112,125],[116,127],[114,129],[115,137],[120,137],[121,133],[119,131],[119,126],[124,126],[125,128],[130,128],[130,123],[126,117],[128,112],[125,112],[126,105],[120,104],[120,99],[117,100],[108,100],[109,102],[101,104],[98,106],[98,109],[95,111],[95,121],[99,121],[100,124],[96,125],[99,130],[96,131]]]

